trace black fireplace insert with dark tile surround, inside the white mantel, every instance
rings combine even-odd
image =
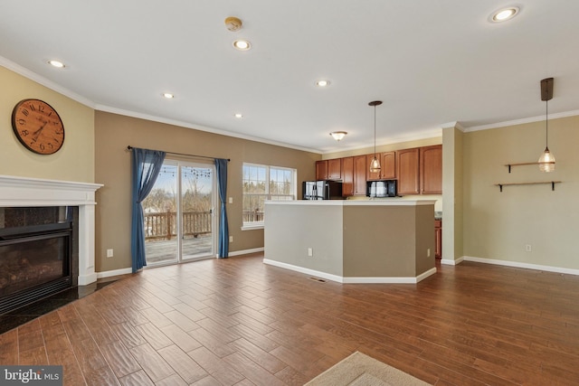
[[[0,208],[0,314],[77,285],[78,212]]]

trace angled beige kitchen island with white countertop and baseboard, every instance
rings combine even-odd
[[[417,283],[436,273],[434,201],[265,203],[263,262],[341,283]]]

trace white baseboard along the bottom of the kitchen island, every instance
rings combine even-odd
[[[436,268],[431,268],[426,272],[423,272],[416,278],[412,277],[405,277],[405,278],[384,278],[384,277],[349,277],[344,278],[338,275],[329,274],[327,272],[321,272],[315,269],[303,268],[299,266],[294,266],[288,263],[282,263],[280,261],[275,261],[271,259],[263,259],[264,264],[269,264],[271,266],[286,268],[289,270],[293,270],[299,273],[303,273],[309,276],[313,276],[316,278],[325,278],[327,280],[336,281],[337,283],[344,283],[344,284],[416,284],[419,281],[428,278],[431,275],[436,273]]]

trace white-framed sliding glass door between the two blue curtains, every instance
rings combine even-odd
[[[147,267],[215,256],[215,167],[166,160],[143,202]]]

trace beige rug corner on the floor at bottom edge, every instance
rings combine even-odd
[[[306,386],[398,386],[428,385],[363,353],[353,353],[322,372]]]

